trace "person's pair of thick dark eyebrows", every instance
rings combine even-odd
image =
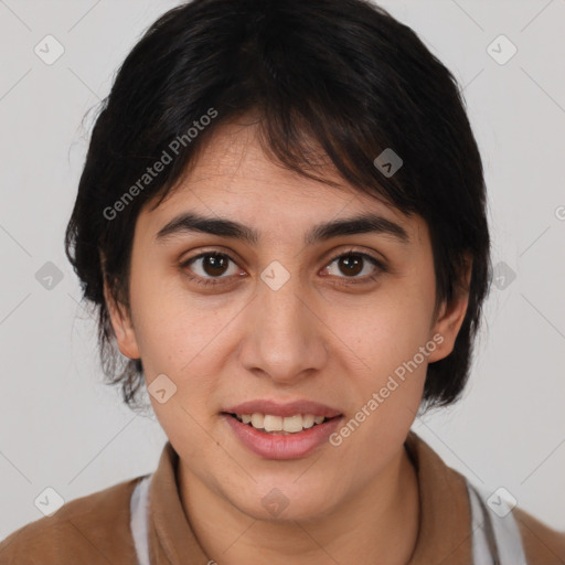
[[[203,216],[195,212],[186,212],[172,218],[158,232],[156,239],[161,242],[174,235],[193,232],[233,237],[253,245],[259,241],[259,233],[253,227],[233,220]],[[313,245],[333,237],[365,233],[387,235],[404,245],[411,243],[408,233],[399,224],[377,214],[363,213],[315,225],[307,232],[305,244]]]

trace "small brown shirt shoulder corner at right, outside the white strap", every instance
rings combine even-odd
[[[557,532],[524,510],[512,511],[516,521],[527,563],[563,565],[565,563],[565,532]]]

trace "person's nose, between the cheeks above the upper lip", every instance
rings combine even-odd
[[[280,384],[320,371],[328,361],[330,332],[317,305],[298,276],[290,276],[280,288],[259,280],[244,320],[239,349],[244,367]]]

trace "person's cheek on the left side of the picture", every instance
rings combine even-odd
[[[150,387],[157,375],[164,374],[177,387],[167,404],[151,397],[153,409],[168,435],[182,429],[198,446],[201,429],[190,416],[204,422],[217,409],[211,402],[236,343],[234,331],[242,300],[198,297],[178,279],[134,280],[131,307],[146,384]]]

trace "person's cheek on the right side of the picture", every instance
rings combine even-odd
[[[359,308],[341,305],[332,310],[329,323],[339,328],[339,338],[352,352],[345,367],[350,416],[363,428],[359,435],[355,431],[352,446],[376,441],[385,449],[402,441],[409,429],[422,401],[428,356],[435,350],[429,335],[433,285],[434,279],[412,273]]]

